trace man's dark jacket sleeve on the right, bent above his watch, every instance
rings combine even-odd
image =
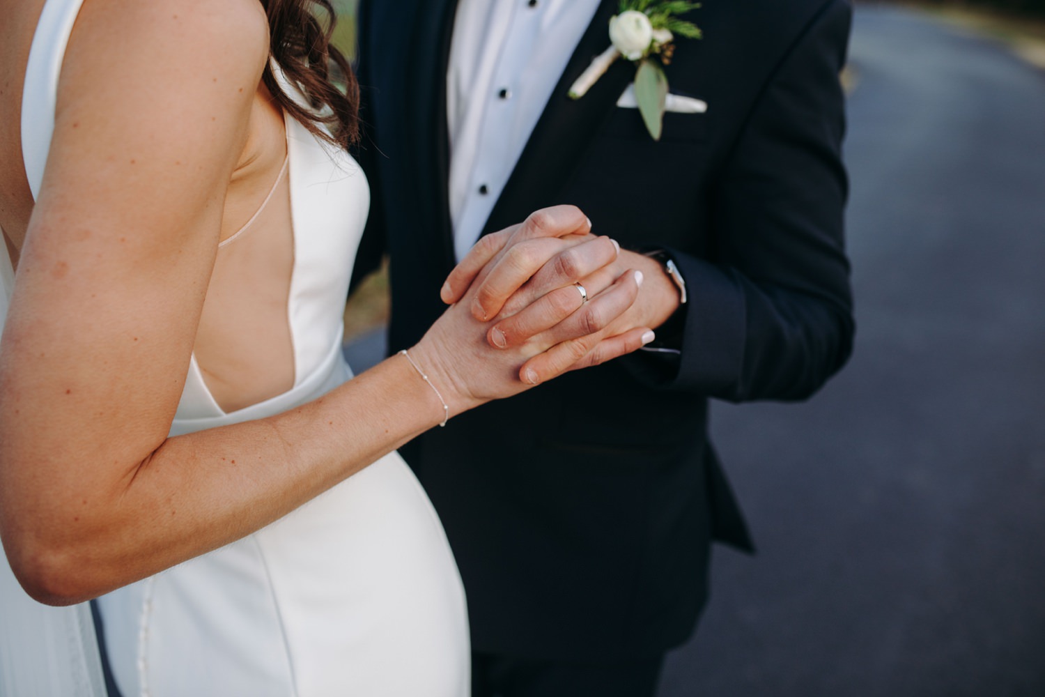
[[[690,300],[677,371],[663,387],[804,399],[849,358],[839,74],[850,19],[846,2],[827,3],[754,102],[713,192],[712,256],[670,250]]]

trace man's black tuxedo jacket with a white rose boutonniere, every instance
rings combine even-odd
[[[690,296],[681,357],[574,372],[403,449],[446,528],[481,651],[612,658],[684,641],[705,600],[710,541],[750,547],[707,441],[707,397],[803,399],[851,350],[838,79],[849,4],[704,0],[692,15],[704,38],[680,40],[667,74],[709,109],[667,114],[660,142],[616,106],[634,76],[624,61],[566,97],[609,45],[618,5],[602,3],[486,231],[570,203],[625,248],[669,249]],[[373,198],[356,272],[390,253],[392,350],[443,311],[454,265],[455,7],[362,2],[359,159]]]

